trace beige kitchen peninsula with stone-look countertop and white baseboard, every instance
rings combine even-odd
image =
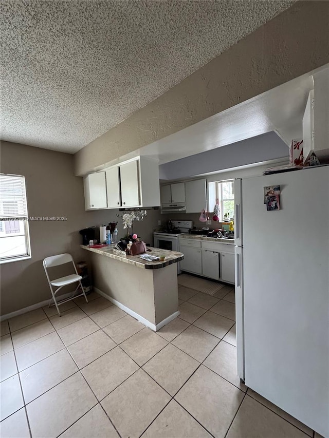
[[[175,251],[151,250],[165,261],[146,261],[140,255],[121,255],[113,246],[81,247],[90,254],[94,288],[120,309],[157,331],[179,315],[176,263],[184,259]]]

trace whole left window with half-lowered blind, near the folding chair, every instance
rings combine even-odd
[[[25,178],[0,174],[0,263],[30,257]]]

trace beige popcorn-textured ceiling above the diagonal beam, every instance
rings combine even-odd
[[[75,153],[291,4],[3,0],[2,139]]]

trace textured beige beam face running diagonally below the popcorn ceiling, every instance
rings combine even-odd
[[[75,174],[329,62],[329,2],[299,1],[75,155]]]

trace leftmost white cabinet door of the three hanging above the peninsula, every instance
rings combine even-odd
[[[106,208],[105,172],[87,175],[84,178],[84,193],[86,210]]]

